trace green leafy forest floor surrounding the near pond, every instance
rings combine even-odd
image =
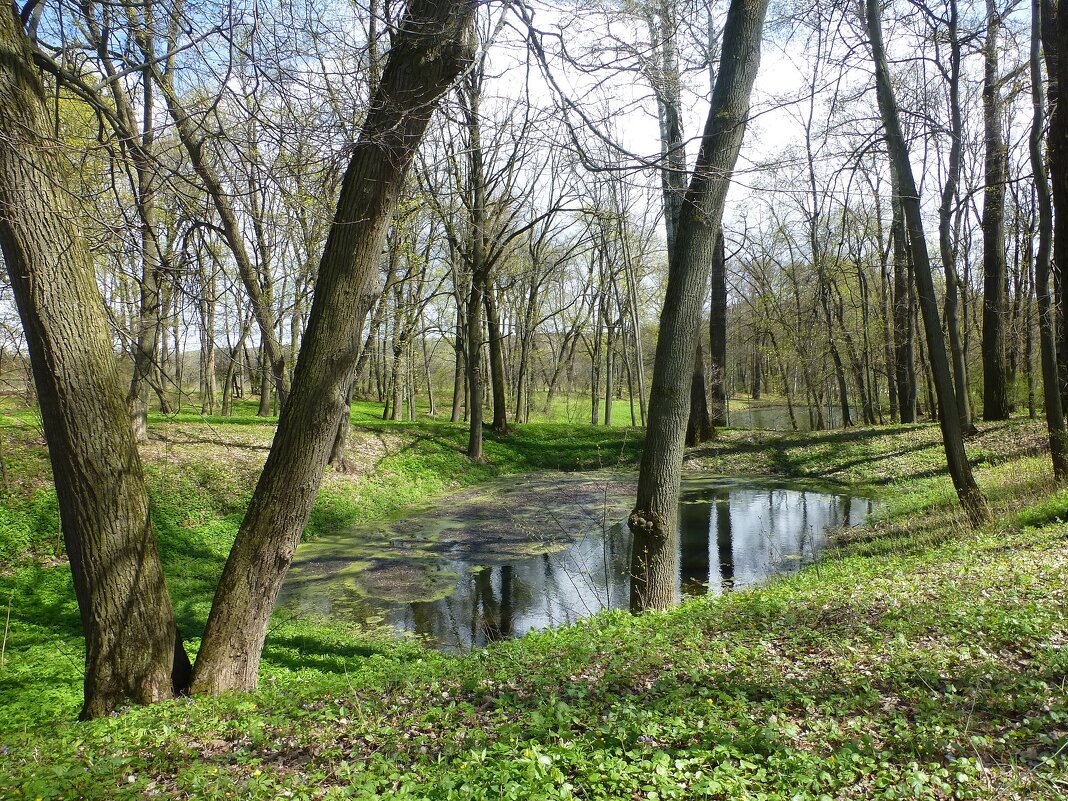
[[[882,512],[813,567],[670,612],[466,655],[277,615],[262,689],[72,722],[79,618],[34,414],[0,414],[0,798],[1063,799],[1068,493],[1041,427],[981,425],[994,520],[968,529],[937,426],[724,430],[688,466],[861,485]],[[634,465],[641,433],[530,424],[462,455],[461,426],[354,407],[354,472],[309,536],[536,470]],[[143,451],[194,651],[272,435],[156,417]]]

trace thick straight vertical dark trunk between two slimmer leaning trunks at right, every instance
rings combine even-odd
[[[1008,316],[1005,263],[1005,184],[1008,148],[1002,131],[998,77],[998,37],[1002,20],[994,0],[987,0],[987,41],[983,47],[983,128],[986,141],[983,192],[983,419],[1008,420],[1008,368],[1005,320]]]

